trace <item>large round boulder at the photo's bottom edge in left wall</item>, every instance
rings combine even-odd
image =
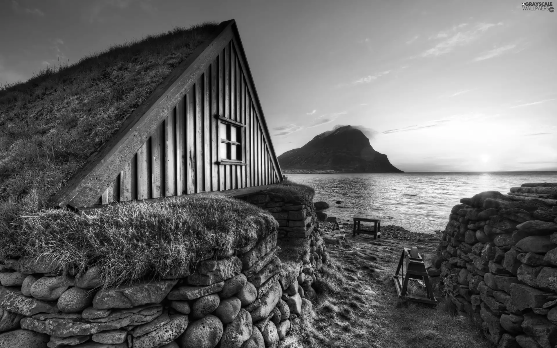
[[[189,324],[179,340],[182,348],[213,348],[221,340],[223,330],[219,318],[209,314]]]

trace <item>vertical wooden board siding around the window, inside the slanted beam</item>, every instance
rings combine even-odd
[[[238,189],[280,181],[231,40],[122,169],[99,204]],[[219,120],[246,125],[244,164],[218,164]]]

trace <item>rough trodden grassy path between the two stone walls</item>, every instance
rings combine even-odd
[[[398,301],[391,278],[403,247],[421,246],[426,266],[441,236],[392,232],[351,236],[327,243],[330,264],[317,281],[313,331],[300,342],[309,347],[489,347],[468,318],[454,315],[452,304],[437,307]],[[338,231],[335,231],[338,233]],[[326,229],[325,234],[331,234]],[[344,245],[343,245],[344,244]],[[306,327],[311,331],[311,327]],[[287,344],[286,346],[296,346]]]

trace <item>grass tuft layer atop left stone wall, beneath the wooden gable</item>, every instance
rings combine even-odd
[[[193,263],[244,247],[277,227],[265,210],[224,197],[111,205],[81,215],[52,209],[13,220],[0,234],[0,261],[40,257],[56,262],[60,273],[99,266],[102,282],[114,286],[188,272]]]

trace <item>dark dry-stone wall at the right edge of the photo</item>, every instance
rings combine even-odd
[[[461,199],[428,268],[498,348],[557,345],[555,193],[524,184]]]

